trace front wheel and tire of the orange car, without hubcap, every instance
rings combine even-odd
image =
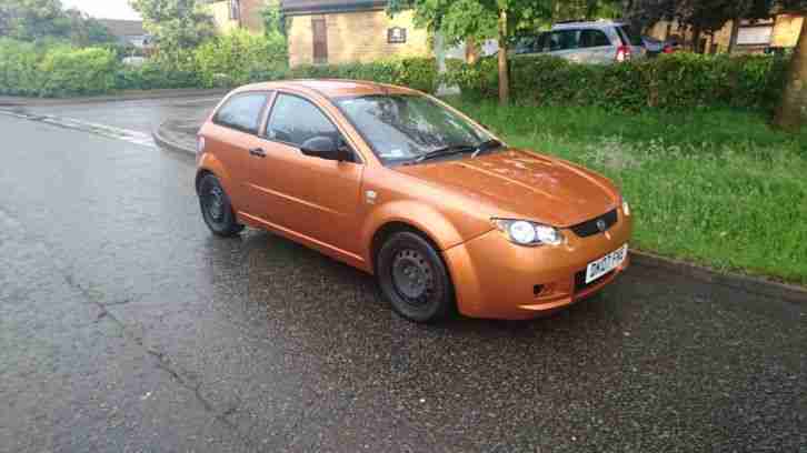
[[[445,320],[454,312],[451,279],[439,252],[410,231],[392,233],[376,256],[381,294],[401,316],[422,323]]]

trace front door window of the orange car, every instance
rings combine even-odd
[[[341,140],[339,130],[313,103],[285,93],[279,93],[275,101],[266,137],[298,147],[315,137]]]

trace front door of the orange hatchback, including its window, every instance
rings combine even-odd
[[[276,229],[340,253],[358,255],[357,211],[363,165],[305,155],[315,138],[347,145],[333,121],[311,100],[278,92],[255,158],[251,190],[261,201],[258,215]]]

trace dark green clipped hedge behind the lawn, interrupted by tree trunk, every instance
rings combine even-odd
[[[625,64],[577,64],[552,57],[510,61],[512,97],[546,104],[666,110],[728,105],[769,110],[778,101],[787,68],[784,58],[677,53]],[[495,59],[451,62],[447,76],[464,93],[495,97]]]

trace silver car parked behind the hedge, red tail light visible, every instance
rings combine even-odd
[[[614,21],[561,22],[551,31],[517,40],[514,54],[550,54],[580,63],[615,63],[647,53],[630,26]]]

